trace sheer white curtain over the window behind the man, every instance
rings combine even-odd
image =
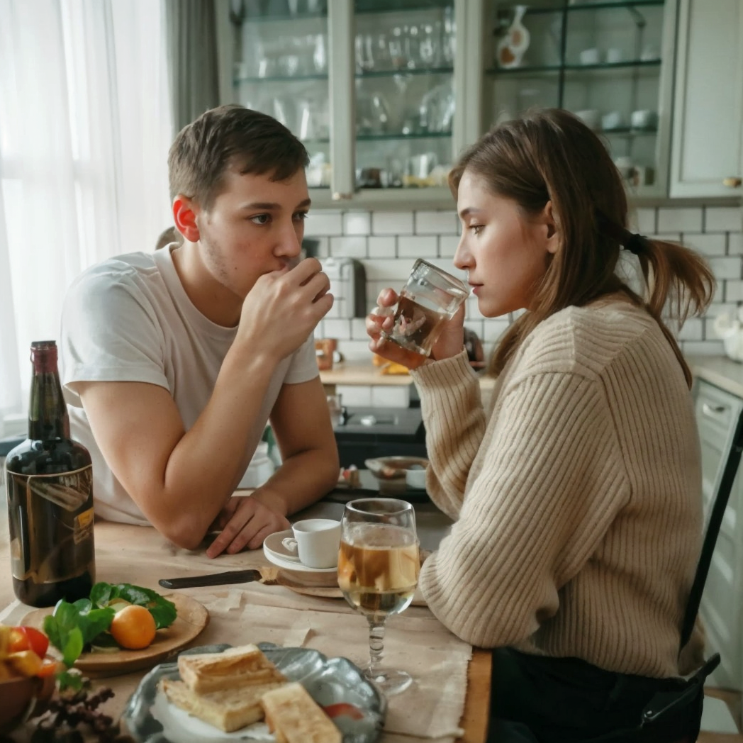
[[[0,0],[0,422],[72,279],[172,224],[169,100],[162,0]]]

